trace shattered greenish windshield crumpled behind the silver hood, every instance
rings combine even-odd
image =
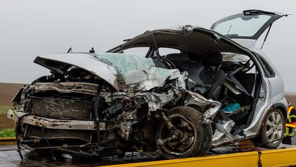
[[[145,87],[160,86],[168,77],[178,71],[177,69],[155,67],[151,58],[144,58],[135,54],[103,53],[90,55],[114,67],[118,72],[116,75],[123,78],[125,85],[145,82]]]

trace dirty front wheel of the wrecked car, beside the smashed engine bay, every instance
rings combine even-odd
[[[172,140],[162,145],[157,144],[157,148],[162,151],[161,156],[163,158],[197,157],[208,153],[212,144],[212,128],[210,124],[202,124],[204,120],[203,113],[191,107],[183,106],[169,110],[166,115],[176,129],[182,131],[184,135],[179,140]],[[188,122],[191,130],[188,129],[188,126],[182,126],[181,122]],[[158,140],[164,140],[170,136],[171,133],[165,122],[160,122],[156,129],[156,142],[158,143]],[[179,142],[182,140],[182,143]],[[172,143],[177,143],[177,145],[170,146]]]

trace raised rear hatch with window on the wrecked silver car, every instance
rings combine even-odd
[[[210,29],[232,38],[241,45],[254,47],[255,42],[268,28],[267,34],[264,37],[264,41],[266,41],[273,22],[282,16],[288,16],[288,14],[263,10],[245,10],[242,13],[227,16],[216,21]],[[249,43],[245,43],[246,39]]]

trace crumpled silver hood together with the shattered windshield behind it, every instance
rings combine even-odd
[[[155,67],[151,58],[134,54],[53,54],[38,56],[34,63],[64,75],[76,67],[85,69],[108,82],[117,91],[123,87],[147,91],[153,87],[162,87],[168,78],[172,80],[180,76],[178,69]]]

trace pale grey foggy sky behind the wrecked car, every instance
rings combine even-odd
[[[28,83],[49,74],[33,63],[38,55],[96,52],[146,30],[171,25],[210,27],[214,21],[248,9],[296,14],[296,1],[14,1],[0,0],[0,82]],[[273,24],[263,50],[296,92],[296,16]]]

